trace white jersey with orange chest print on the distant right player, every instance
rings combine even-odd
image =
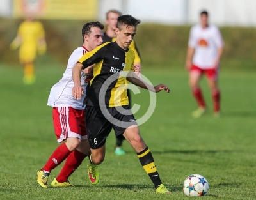
[[[198,24],[191,27],[188,45],[195,49],[193,64],[208,69],[215,67],[218,49],[224,46],[224,42],[217,26],[209,24],[203,28]]]

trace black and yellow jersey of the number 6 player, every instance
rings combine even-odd
[[[127,73],[133,71],[134,58],[131,48],[124,50],[116,42],[106,42],[84,54],[77,63],[82,63],[83,68],[95,64],[84,103],[107,107],[128,105],[125,80]],[[100,89],[106,92],[102,94]]]

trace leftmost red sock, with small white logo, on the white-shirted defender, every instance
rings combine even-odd
[[[58,165],[65,160],[68,155],[70,155],[71,151],[68,150],[66,143],[61,144],[56,150],[52,153],[51,157],[45,164],[45,166],[42,168],[44,171],[51,172],[52,169],[57,167]]]

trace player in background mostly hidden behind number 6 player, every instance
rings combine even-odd
[[[117,22],[117,18],[119,16],[121,16],[122,13],[119,12],[118,10],[109,10],[106,13],[106,24],[107,24],[107,30],[106,32],[104,32],[104,36],[103,36],[103,43],[105,42],[115,42],[116,40],[116,33],[115,33],[115,29],[116,29],[116,22]],[[134,40],[132,40],[131,45],[129,46],[129,48],[131,48],[134,51],[135,54],[135,59],[134,59],[134,66],[139,66],[141,68],[141,58],[140,58],[140,54],[138,52],[138,49],[136,48],[136,44],[134,42]],[[140,76],[140,74],[138,74]],[[128,83],[128,81],[126,81],[126,83]],[[131,105],[131,92],[129,91],[129,89],[127,88],[127,96],[129,98],[129,105],[130,107],[132,107]],[[115,154],[116,155],[124,155],[125,151],[122,148],[122,143],[123,143],[123,139],[121,138],[116,138],[116,146],[115,146]]]

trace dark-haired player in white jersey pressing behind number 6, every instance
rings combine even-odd
[[[72,79],[72,68],[84,53],[95,49],[101,45],[103,40],[104,26],[100,22],[88,22],[84,24],[82,29],[83,46],[78,47],[68,59],[68,65],[63,74],[62,79],[52,88],[48,98],[49,106],[52,106],[54,130],[58,143],[58,148],[52,153],[37,173],[37,181],[43,188],[47,188],[49,175],[55,167],[63,160],[66,160],[60,174],[54,178],[52,187],[71,186],[68,177],[81,165],[84,158],[90,152],[90,146],[87,140],[83,100],[86,95],[86,86],[92,75],[88,75],[92,71],[92,67],[81,72],[81,86],[83,87],[83,96],[80,100],[73,98],[72,88],[74,82]],[[99,171],[97,165],[90,164],[89,179],[92,184],[97,184],[99,180]]]

